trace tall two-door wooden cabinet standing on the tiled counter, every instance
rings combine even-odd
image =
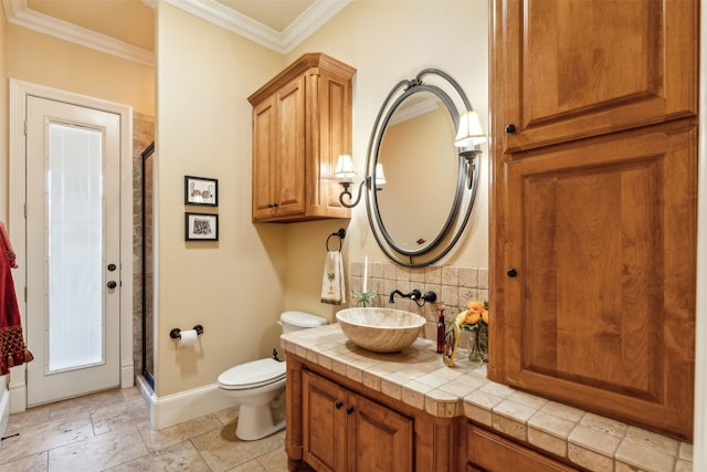
[[[493,8],[489,377],[689,440],[699,2]]]

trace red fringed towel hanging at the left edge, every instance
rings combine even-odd
[[[22,317],[14,295],[14,282],[10,268],[17,268],[10,239],[0,223],[0,375],[10,367],[29,363],[34,357],[24,345]]]

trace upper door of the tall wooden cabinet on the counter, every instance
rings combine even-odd
[[[502,126],[516,128],[504,151],[696,113],[698,1],[497,0],[496,9]]]

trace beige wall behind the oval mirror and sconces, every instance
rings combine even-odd
[[[354,67],[354,162],[363,175],[368,140],[380,106],[392,87],[424,67],[442,69],[464,88],[488,132],[488,2],[354,0],[287,56],[321,51]],[[484,150],[487,150],[484,145]],[[439,265],[488,266],[488,154],[482,158],[481,186],[469,225],[458,249]],[[423,176],[420,177],[421,179]],[[412,209],[408,209],[412,211]],[[333,318],[338,310],[319,303],[325,240],[347,228],[347,263],[386,261],[369,230],[366,206],[351,221],[297,223],[287,229],[285,306]]]

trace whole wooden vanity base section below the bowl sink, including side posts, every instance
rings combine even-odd
[[[461,417],[434,417],[287,352],[291,471],[458,470]]]

